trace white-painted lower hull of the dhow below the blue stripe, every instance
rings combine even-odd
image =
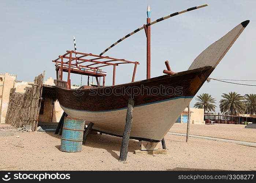
[[[153,104],[134,106],[130,137],[161,141],[192,98],[177,97],[167,101],[154,102]],[[127,109],[89,112],[61,107],[71,117],[84,119],[86,124],[94,123],[93,129],[96,131],[123,135]]]

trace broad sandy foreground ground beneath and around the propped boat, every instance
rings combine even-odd
[[[8,125],[0,124],[0,128],[4,126]],[[182,132],[185,125],[179,126]],[[166,155],[133,154],[138,141],[130,140],[124,164],[118,162],[119,137],[89,135],[82,152],[66,153],[59,150],[61,139],[53,132],[15,132],[14,136],[0,137],[0,170],[256,170],[255,147],[192,137],[186,143],[185,137],[177,135],[166,135],[165,139]]]

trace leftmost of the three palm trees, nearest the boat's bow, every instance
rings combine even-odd
[[[204,109],[205,111],[215,111],[216,105],[214,105],[216,102],[215,98],[212,98],[211,95],[208,93],[200,94],[199,96],[196,96],[195,98],[197,101],[194,105],[195,108]]]

